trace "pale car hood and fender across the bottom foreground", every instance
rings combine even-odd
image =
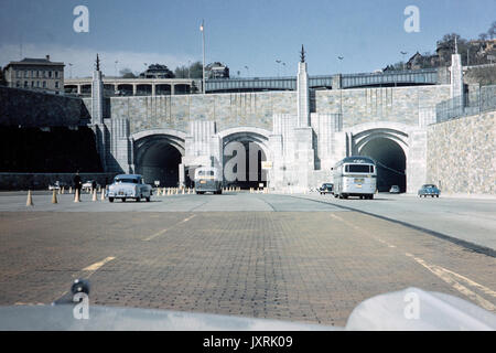
[[[496,315],[468,301],[407,288],[365,300],[344,328],[155,309],[89,306],[75,319],[76,304],[0,308],[0,330],[56,331],[335,331],[335,330],[496,330]]]

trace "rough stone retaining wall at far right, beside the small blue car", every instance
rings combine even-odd
[[[496,194],[496,111],[428,127],[427,182],[443,193]]]

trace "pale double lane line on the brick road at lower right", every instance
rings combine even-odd
[[[479,307],[489,310],[489,311],[495,311],[496,307],[487,301],[486,299],[484,299],[483,297],[481,297],[479,295],[473,292],[472,290],[470,290],[468,288],[466,288],[465,286],[461,285],[460,282],[457,282],[453,276],[457,277],[457,278],[462,278],[462,279],[466,279],[466,281],[468,284],[472,284],[472,286],[476,287],[476,288],[484,288],[484,292],[486,293],[494,293],[493,290],[466,278],[463,277],[459,274],[455,274],[453,271],[450,271],[441,266],[438,265],[431,265],[431,264],[427,264],[423,259],[416,257],[409,253],[406,253],[405,255],[407,255],[408,257],[413,258],[418,264],[422,265],[423,267],[425,267],[428,270],[430,270],[432,274],[434,274],[435,276],[438,276],[439,278],[441,278],[442,280],[444,280],[446,284],[451,285],[454,289],[456,289],[457,291],[460,291],[462,295],[471,298],[473,301],[475,301],[476,303],[478,303]],[[493,295],[492,295],[493,296]]]

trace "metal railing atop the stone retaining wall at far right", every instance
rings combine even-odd
[[[461,99],[454,97],[435,106],[436,122],[496,110],[496,85],[483,86]]]

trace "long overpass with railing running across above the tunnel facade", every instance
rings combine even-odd
[[[339,89],[363,87],[399,87],[435,85],[440,79],[438,68],[393,71],[380,73],[336,74],[309,76],[311,89]],[[211,78],[205,82],[206,93],[242,93],[265,90],[296,90],[296,76]],[[68,78],[66,93],[82,96],[91,94],[91,78]],[[202,92],[202,81],[194,78],[119,78],[104,77],[106,96],[161,96]]]

